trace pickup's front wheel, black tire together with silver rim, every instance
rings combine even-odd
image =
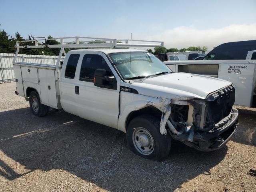
[[[130,150],[138,156],[160,161],[170,154],[171,137],[160,133],[160,119],[154,116],[143,115],[132,119],[126,139]]]

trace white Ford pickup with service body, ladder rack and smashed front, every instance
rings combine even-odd
[[[207,76],[173,73],[153,54],[137,49],[64,48],[118,47],[127,43],[48,45],[61,48],[56,65],[16,62],[16,94],[30,102],[34,115],[45,116],[48,106],[126,133],[137,155],[161,160],[170,153],[171,138],[202,151],[221,148],[238,125],[232,108],[231,82]],[[97,38],[99,39],[99,38]],[[58,39],[55,39],[58,40]],[[103,39],[107,41],[107,39]],[[20,46],[43,48],[45,45]],[[132,46],[162,46],[131,44]]]

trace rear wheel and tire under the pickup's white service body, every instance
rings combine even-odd
[[[48,106],[41,104],[40,97],[36,91],[32,91],[29,95],[29,105],[31,112],[38,117],[46,116]]]

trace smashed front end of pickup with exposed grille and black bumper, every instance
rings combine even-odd
[[[171,100],[164,109],[160,132],[165,125],[172,138],[190,147],[202,151],[219,149],[238,126],[238,110],[232,108],[234,100],[233,84],[208,95],[206,100]]]

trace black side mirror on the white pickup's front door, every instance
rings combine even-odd
[[[108,76],[109,72],[104,69],[96,69],[94,72],[94,86],[108,88],[108,89],[116,89],[116,78],[114,76]]]

